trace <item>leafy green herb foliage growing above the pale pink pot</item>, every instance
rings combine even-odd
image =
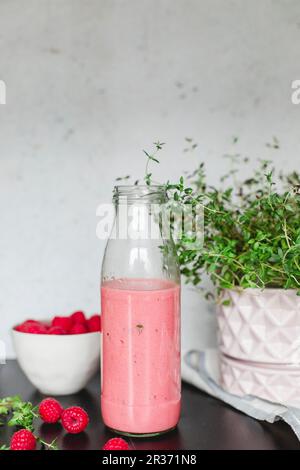
[[[248,159],[231,160],[220,187],[208,185],[203,163],[188,184],[181,178],[167,185],[174,201],[203,211],[202,247],[195,250],[195,238],[184,231],[177,241],[182,273],[195,286],[208,274],[218,293],[282,288],[300,295],[300,174],[276,176],[272,162],[263,160],[239,183],[238,164]]]

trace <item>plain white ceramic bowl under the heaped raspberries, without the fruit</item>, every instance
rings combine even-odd
[[[99,332],[38,335],[13,329],[12,336],[21,369],[43,394],[76,393],[100,366]]]

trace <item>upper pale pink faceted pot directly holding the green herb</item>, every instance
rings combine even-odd
[[[221,352],[234,359],[300,367],[300,297],[296,290],[227,290],[218,311]]]

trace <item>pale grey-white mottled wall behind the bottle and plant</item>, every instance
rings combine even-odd
[[[298,0],[0,0],[0,339],[25,317],[99,310],[96,207],[114,179],[221,155],[299,166]],[[199,143],[182,152],[184,138]]]

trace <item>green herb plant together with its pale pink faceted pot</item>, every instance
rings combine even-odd
[[[262,161],[238,179],[234,166],[208,186],[201,164],[188,187],[169,185],[175,203],[203,211],[202,245],[185,231],[177,241],[182,273],[214,286],[224,388],[299,405],[300,175]]]

